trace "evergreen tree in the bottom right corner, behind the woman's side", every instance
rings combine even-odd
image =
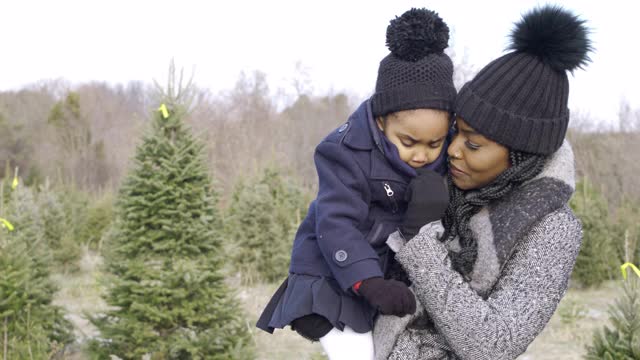
[[[633,275],[632,275],[633,276]],[[609,321],[587,347],[589,360],[640,360],[640,281],[625,282],[623,294],[609,308]]]

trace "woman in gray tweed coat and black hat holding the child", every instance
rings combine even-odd
[[[564,137],[566,72],[589,61],[587,32],[561,8],[535,9],[516,25],[514,51],[461,89],[444,227],[388,240],[418,311],[378,318],[376,358],[515,359],[551,318],[582,241]]]

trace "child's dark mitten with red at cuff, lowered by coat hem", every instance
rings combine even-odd
[[[384,315],[402,317],[416,312],[416,298],[400,281],[381,277],[363,280],[358,293]]]

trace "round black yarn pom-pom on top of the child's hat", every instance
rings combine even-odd
[[[448,43],[449,27],[431,10],[411,9],[391,20],[387,27],[387,47],[405,61],[442,53]]]

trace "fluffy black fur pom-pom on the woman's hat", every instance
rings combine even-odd
[[[558,6],[536,8],[511,33],[509,49],[535,55],[557,71],[573,71],[591,61],[585,21]]]

